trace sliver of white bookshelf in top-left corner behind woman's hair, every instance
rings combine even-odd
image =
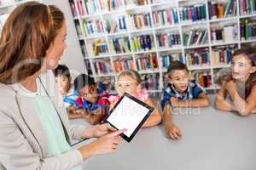
[[[31,1],[32,0],[0,0],[0,32],[9,14],[20,4]],[[42,3],[40,0],[36,0],[36,2]]]

